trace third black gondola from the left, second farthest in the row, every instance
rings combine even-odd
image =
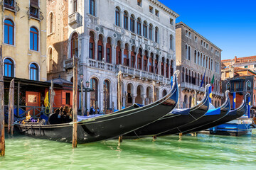
[[[230,98],[228,94],[229,91],[225,91],[225,102],[223,103],[222,106],[220,106],[220,108],[213,109],[213,114],[210,111],[208,111],[208,113],[206,113],[206,115],[201,118],[200,122],[197,122],[194,125],[190,125],[190,127],[187,127],[187,130],[183,130],[183,133],[198,132],[201,130],[212,128],[213,123],[217,122],[218,120],[221,120],[226,115],[228,115],[230,111]],[[214,112],[217,114],[214,114]]]

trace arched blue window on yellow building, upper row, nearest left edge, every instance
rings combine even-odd
[[[14,23],[9,19],[4,20],[4,43],[14,45]]]

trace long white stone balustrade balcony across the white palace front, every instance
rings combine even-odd
[[[144,79],[144,80],[149,80],[149,81],[154,80],[154,81],[158,81],[159,83],[162,83],[162,84],[170,84],[170,82],[171,82],[170,79],[167,79],[159,74],[153,74],[151,72],[145,72],[140,69],[134,69],[134,68],[123,66],[123,65],[115,65],[115,64],[100,62],[100,61],[92,60],[92,59],[89,59],[88,65],[91,68],[102,69],[102,70],[110,71],[110,72],[117,73],[117,72],[121,71],[122,74],[131,76],[133,78]]]

